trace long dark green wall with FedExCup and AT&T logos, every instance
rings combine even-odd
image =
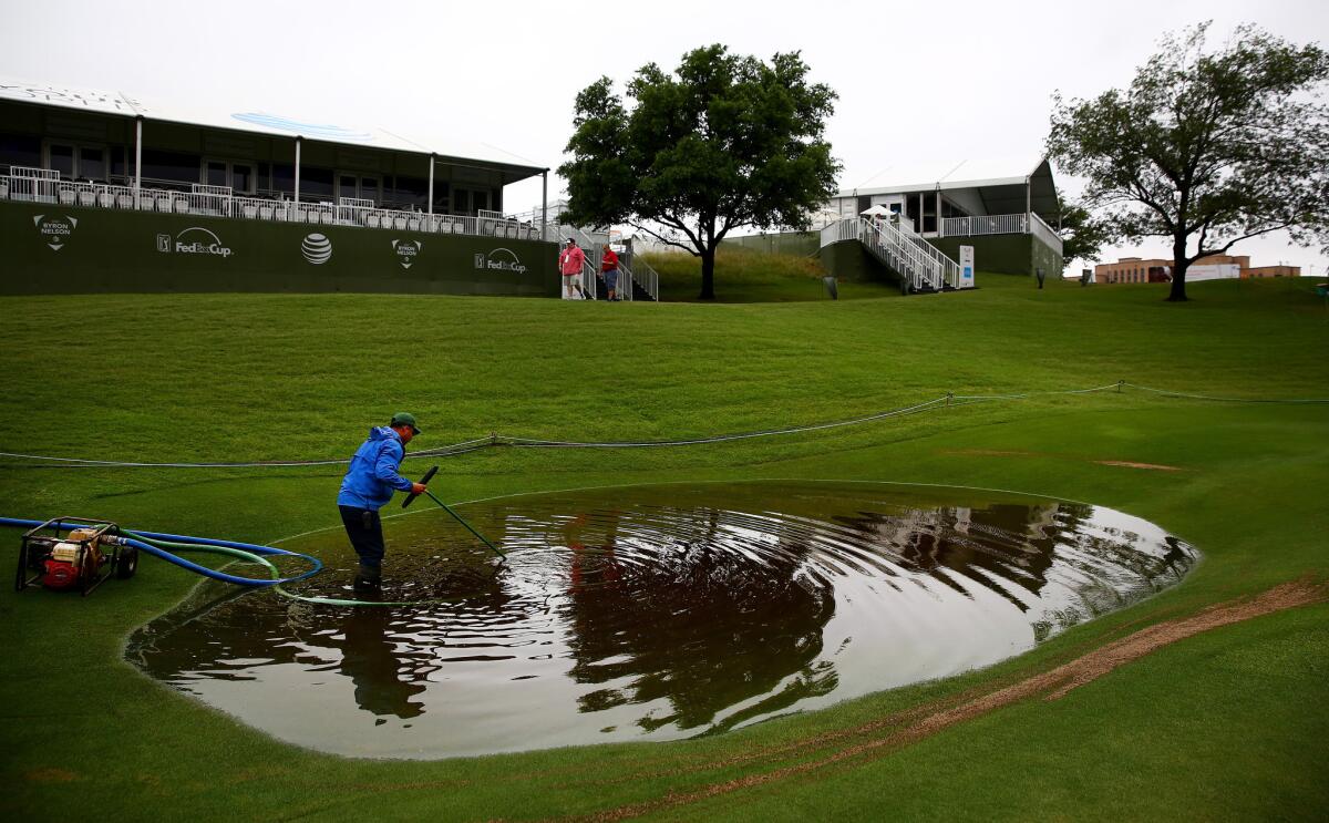
[[[331,243],[324,262],[311,262],[302,250],[308,235],[323,235]],[[316,251],[311,249],[315,258]],[[0,294],[387,291],[557,296],[557,255],[556,243],[496,237],[0,203]]]

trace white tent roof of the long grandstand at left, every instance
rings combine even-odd
[[[253,132],[274,137],[302,137],[304,140],[332,142],[351,146],[385,149],[389,152],[409,152],[412,154],[437,154],[441,158],[473,160],[504,166],[542,172],[541,166],[528,160],[509,154],[489,145],[474,145],[449,141],[448,145],[417,142],[383,128],[343,126],[324,122],[322,118],[295,120],[272,114],[262,108],[245,112],[219,112],[197,106],[169,106],[146,102],[124,92],[100,89],[80,89],[62,85],[28,82],[11,77],[0,77],[0,101],[13,100],[35,105],[78,109],[98,114],[120,114],[122,117],[142,117],[145,121],[178,122],[234,132]]]

